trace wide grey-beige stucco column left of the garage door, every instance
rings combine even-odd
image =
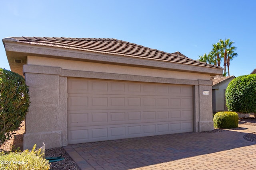
[[[25,118],[23,149],[32,149],[34,144],[41,147],[42,142],[46,149],[61,147],[59,86],[65,83],[60,80],[61,68],[24,65],[23,70],[31,102]]]

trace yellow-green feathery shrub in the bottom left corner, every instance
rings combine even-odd
[[[35,150],[34,145],[31,151],[0,153],[0,170],[48,170],[49,161],[44,159],[41,150]]]

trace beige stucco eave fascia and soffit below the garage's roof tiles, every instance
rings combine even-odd
[[[74,49],[63,49],[60,47],[46,47],[44,45],[34,45],[21,43],[13,38],[3,39],[6,55],[11,70],[23,74],[22,65],[20,68],[13,62],[15,58],[26,60],[26,56],[40,56],[58,59],[69,59],[77,61],[90,61],[95,63],[107,63],[117,65],[139,66],[146,68],[157,68],[163,70],[176,70],[183,72],[196,72],[201,74],[210,74],[210,76],[222,74],[221,67],[196,66],[190,64],[172,63],[170,61],[162,61],[156,59],[144,59],[137,57],[129,57],[126,55],[110,55],[107,53],[96,53]],[[26,64],[24,62],[24,64]]]

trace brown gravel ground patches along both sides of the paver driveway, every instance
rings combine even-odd
[[[256,126],[256,119],[254,117],[239,118],[239,124]],[[17,149],[18,147],[22,150],[23,133],[25,131],[24,122],[21,125],[22,127],[14,131],[15,134],[14,137],[12,137],[12,139],[6,142],[4,145],[0,146],[0,151],[8,152],[11,151],[12,149]],[[202,133],[217,133],[222,131],[226,130],[214,129],[212,131],[204,131]],[[244,139],[246,139],[247,141],[256,142],[256,132],[244,135]],[[45,153],[46,157],[64,157],[64,160],[60,160],[58,162],[51,162],[51,170],[80,170],[76,162],[72,160],[72,158],[66,153],[66,151],[62,147],[46,149]]]

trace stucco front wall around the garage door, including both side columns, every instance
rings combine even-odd
[[[28,57],[23,71],[30,86],[24,149],[67,145],[67,77],[188,84],[194,87],[194,131],[213,129],[210,75],[111,64]],[[208,90],[209,95],[203,95]]]

